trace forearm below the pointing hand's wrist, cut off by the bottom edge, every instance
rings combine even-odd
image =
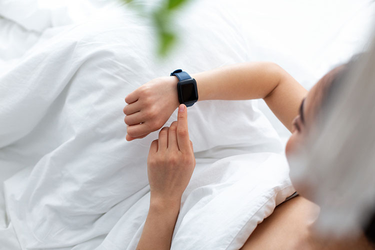
[[[179,203],[151,201],[137,250],[169,250]]]

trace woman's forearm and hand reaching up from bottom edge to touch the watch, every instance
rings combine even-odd
[[[195,167],[187,129],[187,109],[179,105],[177,121],[163,127],[147,157],[150,206],[136,249],[170,249],[181,196]]]

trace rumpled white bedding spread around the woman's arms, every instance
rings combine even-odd
[[[243,1],[239,8],[200,1],[179,19],[194,42],[180,45],[184,54],[158,61],[151,56],[155,38],[150,28],[128,11],[111,8],[106,10],[112,11],[110,18],[90,20],[87,13],[84,22],[67,18],[53,25],[46,18],[31,27],[14,10],[26,11],[22,7],[27,4],[3,3],[9,5],[0,14],[18,24],[8,19],[0,23],[14,26],[7,33],[22,52],[11,49],[10,57],[0,57],[3,64],[11,61],[0,70],[0,181],[6,180],[5,205],[0,195],[0,249],[133,249],[148,208],[145,157],[157,133],[124,140],[121,112],[128,92],[176,67],[197,72],[263,59],[276,61],[309,87],[323,69],[350,57],[364,43],[364,37],[351,46],[345,42],[363,34],[365,18],[373,16],[364,8],[373,6],[367,1],[342,2],[340,11],[321,1],[314,5],[316,11],[324,4],[341,13],[340,18],[315,12],[325,13],[323,21],[331,25],[321,26],[315,19],[316,30],[322,31],[296,46],[296,37],[310,31],[291,32],[282,26],[290,19],[267,9],[278,20],[274,27],[270,16],[259,14],[265,5]],[[303,10],[297,1],[293,4],[284,10]],[[347,17],[354,6],[357,15]],[[40,8],[35,9],[37,13]],[[60,13],[74,16],[71,11]],[[363,29],[350,28],[354,21]],[[314,27],[313,21],[307,23]],[[351,33],[341,39],[326,37],[338,26]],[[273,39],[280,27],[294,36]],[[30,42],[24,37],[31,37]],[[9,40],[0,39],[0,46],[11,48]],[[327,54],[325,48],[337,44],[341,47]],[[302,56],[304,46],[313,53]],[[237,249],[293,192],[281,142],[256,101],[204,101],[189,108],[188,116],[197,165],[182,198],[172,249]],[[166,125],[175,118],[173,114]]]

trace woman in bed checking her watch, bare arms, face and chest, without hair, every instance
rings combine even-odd
[[[286,155],[303,143],[325,93],[346,65],[334,68],[307,92],[291,75],[270,62],[234,64],[192,75],[198,100],[244,100],[263,98],[272,112],[292,132]],[[182,192],[195,166],[187,132],[187,110],[179,105],[177,77],[153,79],[125,98],[127,140],[142,138],[159,129],[178,107],[178,119],[163,127],[151,143],[147,159],[150,207],[137,249],[169,249]],[[303,192],[299,190],[303,195]],[[297,196],[275,208],[260,223],[243,249],[360,249],[368,247],[364,236],[347,242],[325,241],[312,233],[319,207]],[[325,248],[324,248],[325,249]]]

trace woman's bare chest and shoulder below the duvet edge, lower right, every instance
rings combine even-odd
[[[365,250],[373,249],[361,234],[356,238],[332,239],[318,235],[314,220],[319,207],[307,199],[297,196],[279,206],[265,218],[248,237],[241,250]]]

